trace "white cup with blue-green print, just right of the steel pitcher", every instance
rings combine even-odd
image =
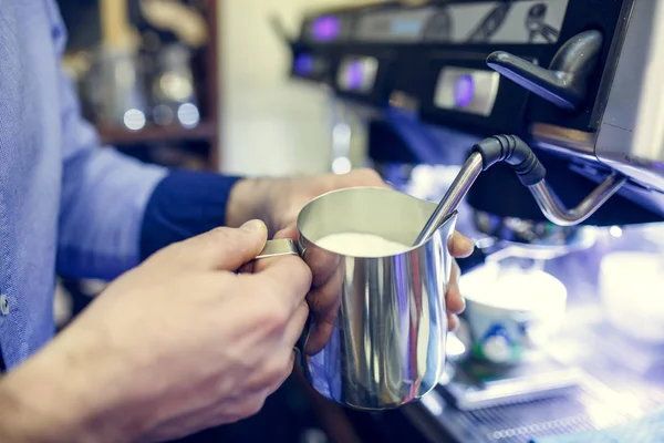
[[[465,332],[470,353],[490,363],[533,357],[564,316],[567,288],[543,271],[488,264],[463,276],[459,286],[466,298],[459,338]]]

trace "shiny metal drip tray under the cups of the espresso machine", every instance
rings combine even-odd
[[[551,347],[557,356],[566,354],[560,363],[544,359],[492,377],[477,377],[463,365],[458,371],[460,364],[455,363],[457,371],[448,372],[445,384],[404,413],[432,442],[447,441],[442,437],[447,435],[463,443],[529,443],[636,423],[664,404],[657,370],[662,365],[656,364],[661,353],[612,332],[591,316],[596,311],[593,307],[569,312],[568,321],[574,326],[568,329],[570,337],[561,334]],[[566,368],[580,369],[568,372]],[[581,435],[581,441],[592,441]]]

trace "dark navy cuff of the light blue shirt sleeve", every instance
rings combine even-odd
[[[242,177],[172,171],[149,198],[141,229],[141,259],[226,223],[232,186]]]

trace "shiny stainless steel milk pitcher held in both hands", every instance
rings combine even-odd
[[[301,364],[322,395],[361,410],[404,405],[435,388],[445,368],[447,243],[456,214],[422,245],[385,257],[340,255],[325,236],[363,233],[412,245],[436,204],[391,189],[335,190],[298,217],[299,240],[271,240],[258,257],[300,254],[313,274],[317,333]]]

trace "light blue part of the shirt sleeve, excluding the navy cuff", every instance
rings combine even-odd
[[[61,56],[66,32],[49,2],[53,44]],[[81,117],[79,99],[59,72],[62,184],[56,271],[72,278],[113,279],[141,260],[141,226],[147,202],[167,169],[102,147]]]

